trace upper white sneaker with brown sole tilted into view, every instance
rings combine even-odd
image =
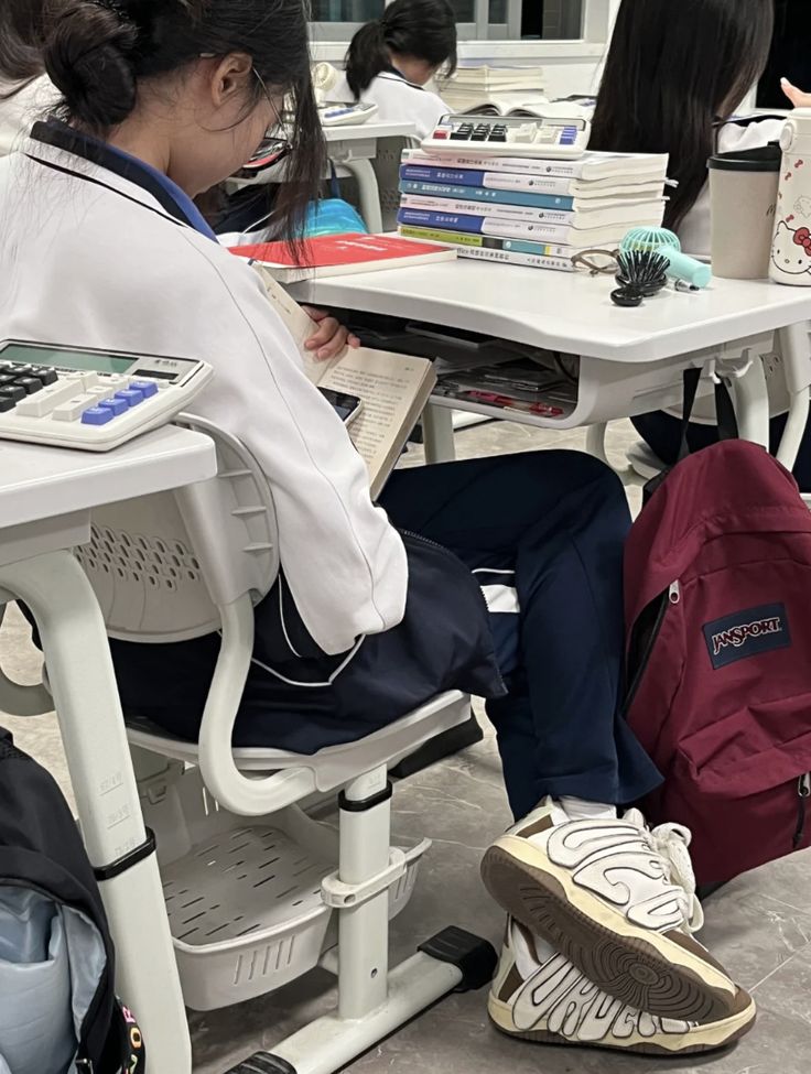
[[[705,1022],[735,1011],[737,988],[693,939],[703,923],[677,825],[640,813],[570,821],[548,800],[487,850],[482,876],[499,905],[637,1010]]]

